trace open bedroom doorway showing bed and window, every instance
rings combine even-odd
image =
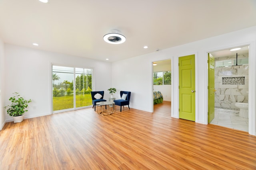
[[[153,105],[171,105],[172,72],[171,59],[154,61],[153,64]],[[153,108],[154,109],[154,108]],[[154,110],[153,110],[154,112]],[[171,109],[170,109],[171,113]]]

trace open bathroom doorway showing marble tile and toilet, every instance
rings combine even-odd
[[[248,132],[249,46],[213,51],[214,119],[210,124]]]

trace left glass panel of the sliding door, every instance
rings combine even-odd
[[[74,107],[74,68],[52,66],[52,106],[53,111]]]

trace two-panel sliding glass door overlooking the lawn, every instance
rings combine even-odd
[[[52,110],[92,105],[92,69],[52,65]]]

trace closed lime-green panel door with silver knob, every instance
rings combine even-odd
[[[179,57],[179,117],[196,119],[195,109],[195,55]]]

